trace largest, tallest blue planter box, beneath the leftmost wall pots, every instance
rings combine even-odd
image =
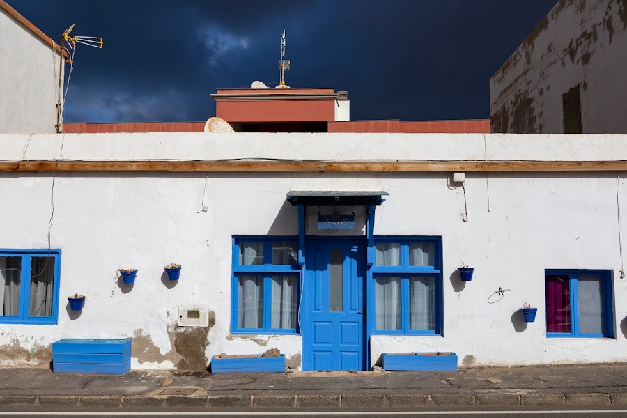
[[[130,370],[131,341],[61,339],[52,343],[54,373],[124,374]]]

